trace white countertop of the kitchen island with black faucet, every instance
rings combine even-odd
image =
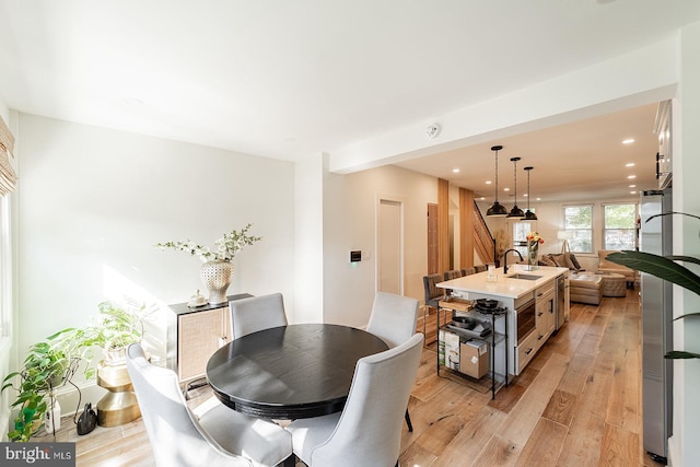
[[[527,265],[513,265],[509,268],[508,275],[503,275],[503,269],[497,269],[497,280],[489,282],[488,272],[464,276],[435,284],[442,289],[451,289],[459,292],[474,292],[485,295],[495,295],[510,299],[521,297],[540,285],[553,280],[558,276],[569,271],[567,268],[552,268],[548,266],[538,267],[534,271],[527,270]],[[530,279],[516,279],[513,276],[523,275]],[[537,279],[532,279],[532,277]]]

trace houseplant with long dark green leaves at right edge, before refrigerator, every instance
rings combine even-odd
[[[662,214],[652,215],[646,220],[646,222],[660,215],[670,214],[700,219],[698,215],[687,214],[685,212],[664,212]],[[700,296],[700,276],[696,275],[687,267],[676,262],[681,261],[686,264],[700,265],[700,258],[682,255],[660,256],[651,253],[625,250],[620,253],[612,253],[607,256],[607,259],[618,265],[627,266],[628,268],[646,272],[660,279],[675,283],[676,285],[680,285]],[[700,316],[700,313],[687,313],[678,316],[674,320],[690,317],[697,318],[698,316]],[[700,359],[700,353],[673,350],[666,353],[665,357],[667,359]]]

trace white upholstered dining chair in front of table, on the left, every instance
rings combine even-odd
[[[213,397],[190,411],[175,372],[149,363],[138,343],[127,349],[127,370],[158,466],[293,462],[291,436],[275,423],[238,413]]]

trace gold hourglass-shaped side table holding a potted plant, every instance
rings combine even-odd
[[[118,427],[141,417],[126,364],[101,366],[97,370],[97,385],[108,390],[97,402],[100,427]]]

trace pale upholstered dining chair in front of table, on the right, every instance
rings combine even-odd
[[[416,380],[423,335],[358,360],[342,412],[287,427],[292,450],[310,467],[398,465],[404,411]]]

